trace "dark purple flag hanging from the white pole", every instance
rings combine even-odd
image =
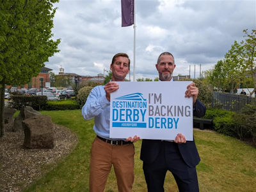
[[[122,27],[134,24],[134,0],[121,0]]]

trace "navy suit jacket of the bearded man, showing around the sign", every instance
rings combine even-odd
[[[203,117],[205,115],[205,106],[199,100],[196,100],[193,115]],[[195,141],[187,141],[186,144],[177,144],[180,154],[189,167],[195,167],[200,162],[200,157],[196,149]],[[140,159],[144,163],[153,163],[161,149],[161,140],[142,140]]]

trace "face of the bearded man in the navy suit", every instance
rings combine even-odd
[[[156,64],[159,79],[163,81],[171,80],[175,66],[172,55],[162,55],[159,64]]]

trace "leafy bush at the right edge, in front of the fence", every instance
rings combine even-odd
[[[234,131],[240,139],[251,138],[256,143],[256,105],[246,105],[241,112],[233,116]]]

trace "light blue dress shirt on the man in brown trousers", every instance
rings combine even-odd
[[[90,120],[94,117],[94,132],[102,138],[109,138],[110,102],[106,98],[104,85],[96,86],[90,92],[86,103],[82,108],[84,119]],[[111,140],[120,140],[113,139]],[[125,140],[125,139],[122,139]]]

